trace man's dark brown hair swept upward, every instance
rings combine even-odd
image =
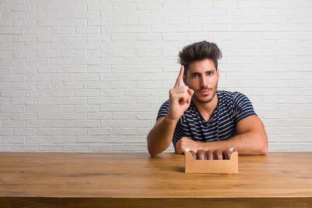
[[[211,59],[216,69],[218,68],[218,59],[222,58],[221,50],[217,44],[207,41],[195,42],[185,46],[179,52],[178,62],[184,66],[184,74],[188,65],[197,60]]]

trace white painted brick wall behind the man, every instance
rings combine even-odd
[[[0,151],[147,152],[178,51],[201,40],[269,150],[311,151],[311,0],[0,0]]]

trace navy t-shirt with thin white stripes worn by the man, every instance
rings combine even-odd
[[[256,115],[250,100],[242,93],[217,91],[217,96],[217,107],[208,121],[205,121],[194,104],[190,103],[176,124],[172,138],[174,148],[182,137],[197,142],[229,139],[237,135],[236,124],[240,120]],[[168,109],[169,100],[161,105],[157,119],[167,115]]]

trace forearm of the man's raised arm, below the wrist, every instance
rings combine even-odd
[[[172,137],[177,121],[170,120],[167,116],[156,122],[156,125],[148,134],[148,150],[152,156],[156,156],[166,150],[172,142]]]

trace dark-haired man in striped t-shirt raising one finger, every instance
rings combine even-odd
[[[264,125],[250,100],[239,92],[217,91],[221,57],[217,45],[206,41],[179,52],[180,73],[147,138],[152,156],[171,142],[177,154],[185,148],[196,152],[232,147],[240,155],[267,154]]]

